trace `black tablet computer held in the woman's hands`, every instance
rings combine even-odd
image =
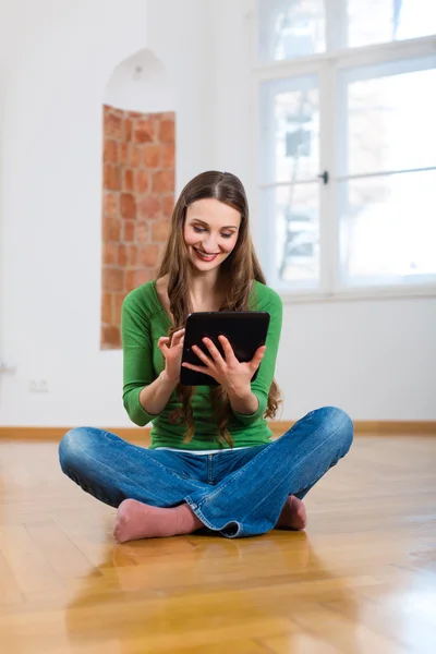
[[[226,336],[233,348],[238,361],[251,361],[258,348],[265,344],[269,327],[269,313],[257,311],[218,311],[197,312],[187,316],[185,325],[182,363],[204,365],[192,351],[192,346],[198,346],[209,354],[203,338],[209,338],[222,352],[219,336]],[[262,364],[261,364],[262,365]],[[258,368],[252,382],[257,377]],[[217,386],[209,375],[190,371],[182,366],[180,383],[183,386]]]

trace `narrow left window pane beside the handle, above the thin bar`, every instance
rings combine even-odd
[[[295,182],[319,173],[319,105],[316,75],[262,86],[261,180]]]

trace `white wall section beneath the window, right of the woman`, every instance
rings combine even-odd
[[[436,300],[288,304],[283,415],[336,404],[354,420],[436,420],[435,331]]]

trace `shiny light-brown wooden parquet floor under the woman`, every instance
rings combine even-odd
[[[436,652],[436,438],[362,437],[305,534],[117,546],[55,443],[0,441],[5,654]]]

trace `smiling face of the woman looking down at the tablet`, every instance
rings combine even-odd
[[[218,268],[234,250],[240,225],[240,213],[214,197],[189,205],[183,237],[192,265],[205,272]]]

